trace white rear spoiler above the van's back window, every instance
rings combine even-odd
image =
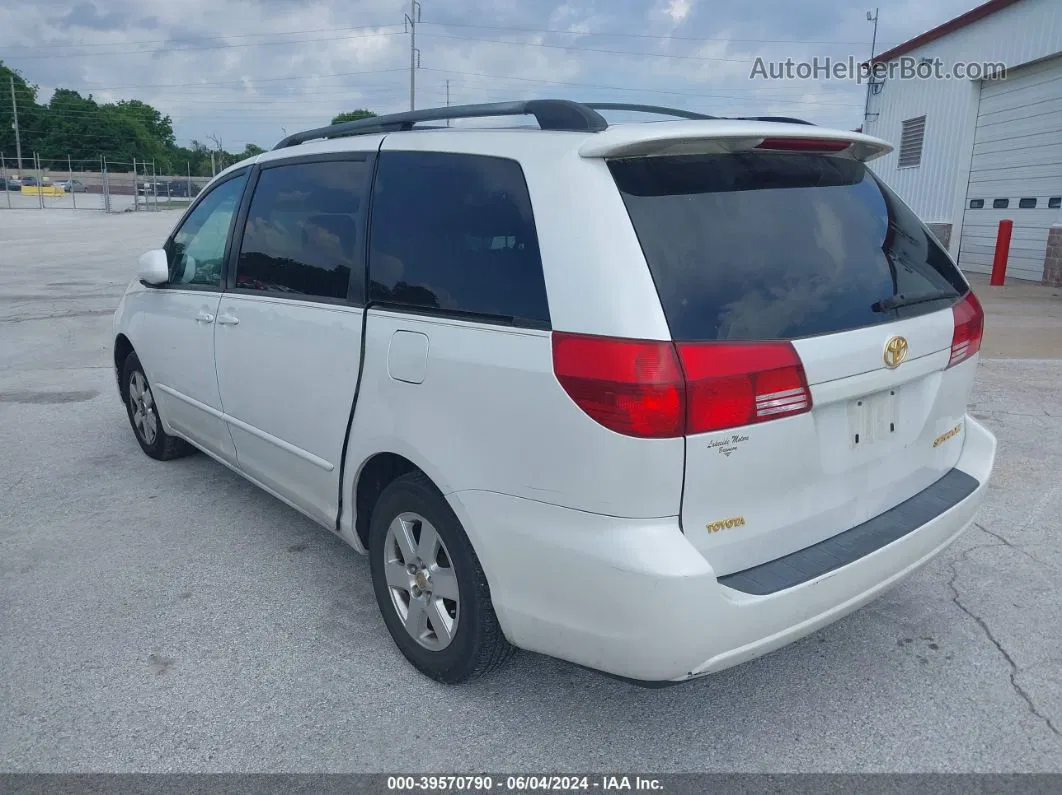
[[[808,124],[713,119],[616,124],[590,136],[582,157],[650,157],[733,152],[815,152],[866,162],[892,152],[892,144],[862,133]]]

